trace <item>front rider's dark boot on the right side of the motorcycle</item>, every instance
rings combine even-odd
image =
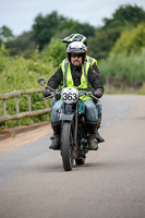
[[[88,142],[92,150],[98,149],[98,143],[96,141],[96,128],[97,122],[87,121]]]

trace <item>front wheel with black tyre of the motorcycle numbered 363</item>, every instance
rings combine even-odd
[[[61,133],[62,143],[62,164],[65,171],[71,171],[74,161],[74,146],[73,146],[73,135],[70,122],[64,122]]]

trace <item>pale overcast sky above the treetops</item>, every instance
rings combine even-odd
[[[102,25],[121,4],[137,4],[145,10],[145,0],[0,0],[0,27],[7,25],[14,35],[31,31],[37,14],[59,15],[94,26]]]

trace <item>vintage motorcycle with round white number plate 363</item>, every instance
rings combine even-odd
[[[52,98],[61,95],[62,107],[58,111],[59,120],[61,122],[61,143],[60,154],[62,156],[63,169],[71,171],[75,164],[84,165],[86,154],[90,150],[88,145],[88,134],[86,126],[85,106],[80,99],[82,96],[89,96],[98,100],[88,88],[81,88],[81,92],[74,87],[65,87],[60,89],[52,89],[46,85],[45,78],[38,78],[39,85],[45,85],[51,89]]]

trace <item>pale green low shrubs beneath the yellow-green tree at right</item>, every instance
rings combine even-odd
[[[106,77],[114,76],[124,80],[145,81],[145,49],[140,53],[120,53],[110,56],[99,62],[99,70],[104,82]]]

